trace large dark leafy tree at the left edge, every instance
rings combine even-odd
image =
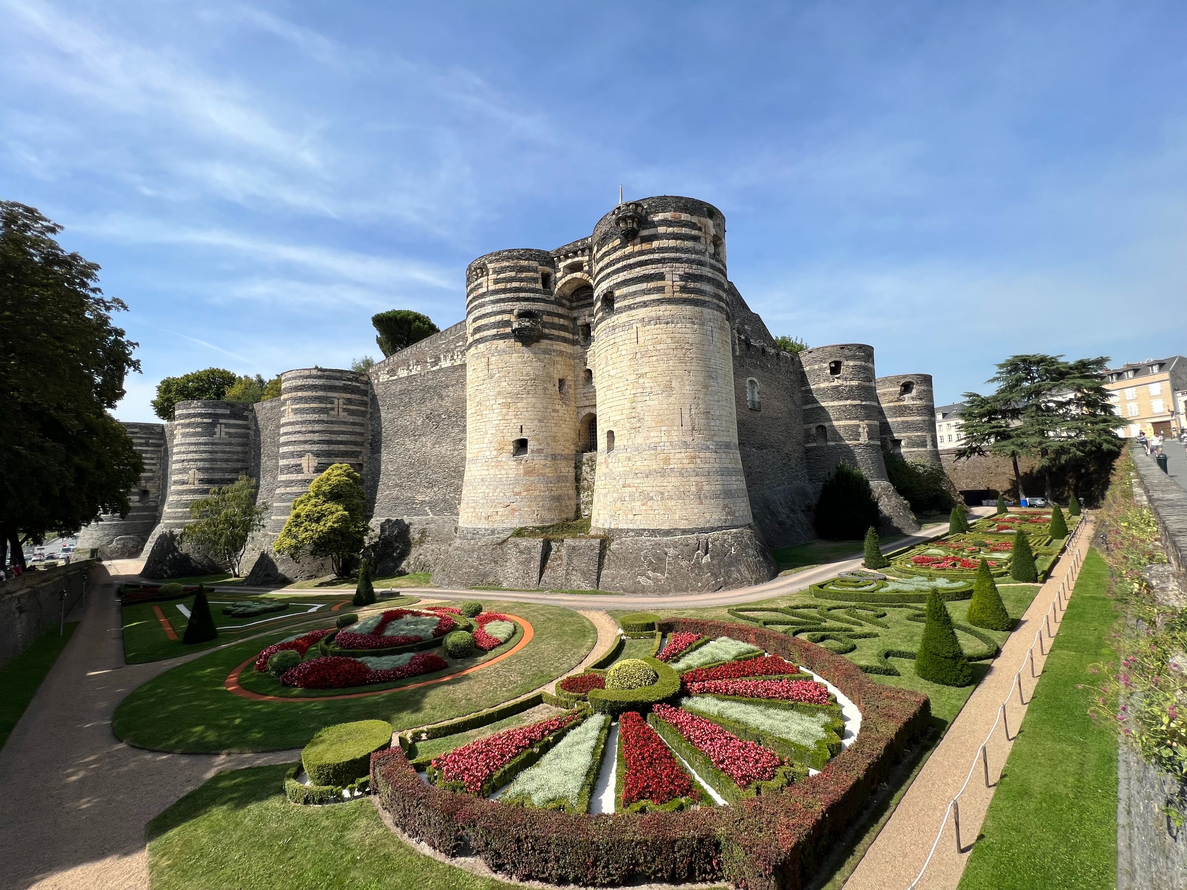
[[[66,253],[62,227],[0,202],[0,565],[100,513],[127,515],[144,472],[107,412],[123,398],[137,344],[112,324],[99,266]]]

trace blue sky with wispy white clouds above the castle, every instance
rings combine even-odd
[[[775,333],[984,390],[1187,352],[1182,2],[0,0],[0,197],[131,311],[144,374],[379,356],[469,260],[626,196],[726,217]]]

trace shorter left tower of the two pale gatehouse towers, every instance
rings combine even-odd
[[[556,280],[547,250],[497,250],[466,269],[461,529],[576,516],[575,331]]]

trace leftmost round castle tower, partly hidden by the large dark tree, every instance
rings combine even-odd
[[[161,477],[165,450],[164,424],[125,424],[121,421],[132,447],[145,462],[140,481],[128,491],[132,509],[120,519],[119,514],[103,514],[78,533],[78,549],[99,549],[100,559],[127,559],[140,555],[140,551],[157,526],[160,501],[164,494]]]

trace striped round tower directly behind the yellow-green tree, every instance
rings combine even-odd
[[[280,468],[268,527],[273,538],[285,527],[293,501],[330,464],[349,464],[362,473],[370,381],[332,368],[290,370],[280,375]]]

